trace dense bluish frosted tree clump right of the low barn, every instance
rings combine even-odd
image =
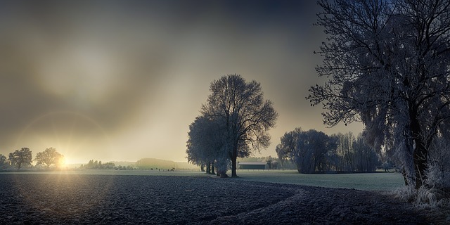
[[[286,132],[276,146],[281,162],[290,160],[302,174],[326,172],[375,172],[378,155],[352,133],[328,136],[321,131],[296,128]]]

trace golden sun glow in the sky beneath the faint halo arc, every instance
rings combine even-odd
[[[18,136],[16,146],[25,144],[34,154],[56,148],[63,155],[55,162],[65,168],[94,158],[93,149],[108,155],[110,137],[96,120],[82,113],[56,111],[36,117]],[[86,160],[88,159],[88,160]]]

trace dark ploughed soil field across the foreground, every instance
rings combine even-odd
[[[391,196],[208,176],[0,174],[0,224],[436,224]]]

